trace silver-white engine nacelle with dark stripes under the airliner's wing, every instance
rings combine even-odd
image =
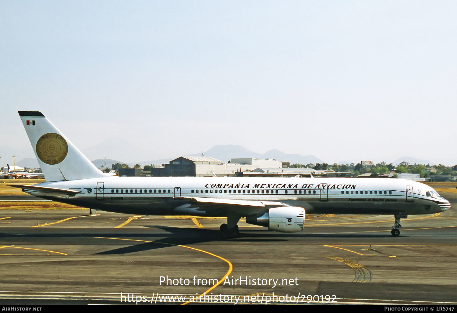
[[[301,232],[305,223],[305,209],[298,206],[280,206],[266,213],[246,216],[246,223],[265,226],[275,232]]]

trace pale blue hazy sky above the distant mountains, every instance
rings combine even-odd
[[[126,162],[234,144],[454,165],[456,16],[453,0],[0,1],[0,164],[33,157],[16,111],[36,110],[81,150],[118,139],[99,157]]]

